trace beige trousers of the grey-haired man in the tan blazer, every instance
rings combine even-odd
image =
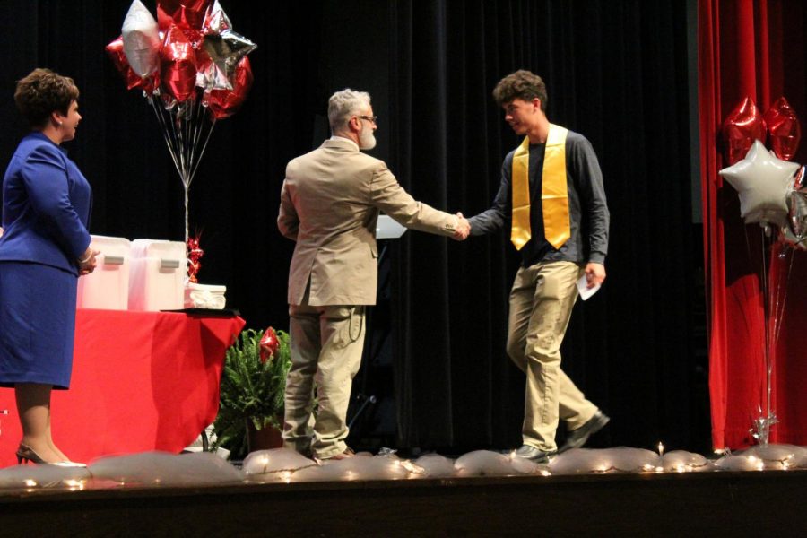
[[[303,302],[308,303],[308,293]],[[353,377],[361,365],[364,309],[289,306],[291,369],[286,377],[285,447],[320,458],[336,456],[347,448],[347,409]]]

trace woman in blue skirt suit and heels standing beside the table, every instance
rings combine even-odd
[[[77,277],[91,273],[92,191],[60,144],[82,117],[73,79],[35,69],[14,101],[31,132],[3,178],[0,386],[13,386],[22,424],[17,460],[72,465],[50,434],[51,390],[70,385]]]

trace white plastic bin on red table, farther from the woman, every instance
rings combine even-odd
[[[154,312],[184,308],[185,243],[134,239],[131,252],[129,309]]]

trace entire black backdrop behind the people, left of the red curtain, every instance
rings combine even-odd
[[[154,2],[144,4],[153,13]],[[471,215],[490,205],[501,159],[517,143],[490,91],[524,67],[546,80],[551,121],[593,143],[612,211],[608,281],[577,305],[563,348],[570,377],[613,418],[593,446],[707,449],[683,3],[222,4],[259,46],[255,84],[244,108],[215,127],[191,188],[191,229],[203,232],[201,281],[227,285],[247,325],[288,326],[293,244],[275,226],[283,169],[327,135],[330,93],[370,91],[380,116],[372,153],[416,198]],[[24,132],[14,81],[35,66],[73,76],[84,120],[67,147],[94,188],[91,232],[178,240],[177,172],[142,94],[126,91],[104,53],[128,6],[0,4],[0,154],[7,159]],[[388,300],[374,325],[387,334],[386,359],[368,361],[361,379],[387,393],[368,414],[377,428],[386,423],[383,442],[456,453],[518,445],[524,377],[504,351],[517,265],[508,238],[457,244],[409,232],[390,242],[385,264]],[[370,443],[372,428],[357,442]]]

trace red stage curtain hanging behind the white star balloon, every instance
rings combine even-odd
[[[807,314],[807,253],[785,251],[776,238],[766,239],[759,225],[746,225],[736,191],[717,173],[728,166],[720,126],[746,96],[761,113],[785,96],[804,127],[805,14],[801,0],[699,0],[700,156],[716,448],[755,442],[753,421],[767,415],[768,388],[779,420],[770,442],[807,444],[807,412],[800,412],[807,410],[802,388],[807,331],[800,327]],[[807,161],[804,146],[794,161]]]

